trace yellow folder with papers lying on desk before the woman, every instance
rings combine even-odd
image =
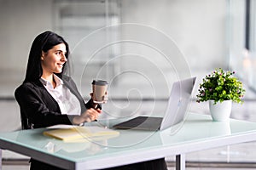
[[[79,126],[65,126],[57,125],[53,127],[48,127],[48,130],[44,131],[45,136],[53,137],[55,139],[61,139],[63,141],[71,141],[78,139],[106,139],[119,136],[119,132],[97,126],[90,127],[79,127]]]

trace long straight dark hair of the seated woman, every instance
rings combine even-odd
[[[63,37],[57,35],[52,31],[44,31],[39,34],[38,37],[32,42],[32,47],[30,49],[28,62],[26,66],[26,77],[24,82],[34,82],[42,77],[43,69],[41,65],[42,51],[46,53],[49,49],[53,48],[55,45],[64,43],[66,45],[66,58],[68,59],[69,47],[67,42]],[[58,77],[62,77],[63,74],[67,72],[67,62],[63,65],[61,73],[56,73]]]

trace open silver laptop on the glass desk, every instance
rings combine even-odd
[[[164,130],[167,127],[183,122],[195,85],[195,79],[196,77],[191,77],[172,84],[164,117],[137,116],[131,120],[113,125],[113,128],[155,131]]]

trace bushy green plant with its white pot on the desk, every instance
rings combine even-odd
[[[196,95],[197,102],[209,100],[213,121],[226,121],[230,117],[232,101],[242,103],[245,89],[233,75],[235,71],[219,68],[203,78]],[[217,115],[214,115],[217,114]]]

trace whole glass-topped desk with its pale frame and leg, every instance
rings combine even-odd
[[[102,123],[111,127],[116,121]],[[0,148],[68,169],[116,167],[166,156],[176,156],[176,168],[184,169],[186,153],[256,140],[256,122],[212,122],[210,116],[194,113],[164,131],[119,130],[119,136],[111,139],[67,143],[44,136],[44,131],[0,133]]]

